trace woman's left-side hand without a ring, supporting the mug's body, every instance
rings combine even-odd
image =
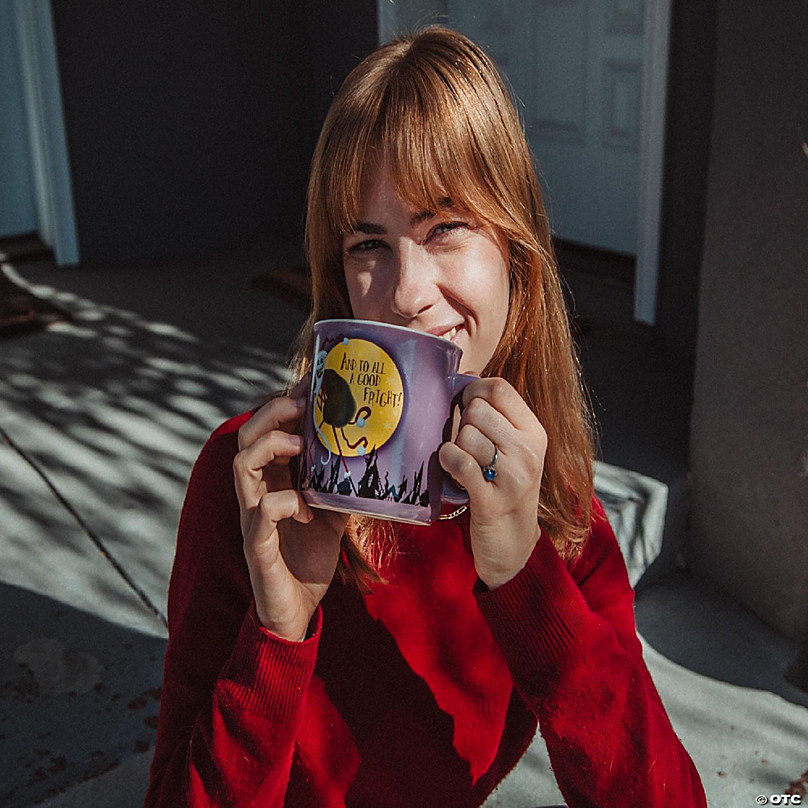
[[[292,392],[300,395],[305,385]],[[244,555],[258,619],[274,634],[303,640],[334,577],[346,514],[312,510],[292,486],[289,459],[305,399],[272,399],[239,430],[233,463]]]

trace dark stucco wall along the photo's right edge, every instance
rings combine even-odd
[[[719,0],[688,558],[808,631],[808,4]]]

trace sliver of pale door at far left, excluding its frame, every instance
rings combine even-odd
[[[37,229],[16,30],[0,2],[0,238]]]

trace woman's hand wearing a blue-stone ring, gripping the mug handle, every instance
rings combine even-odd
[[[441,446],[440,463],[469,495],[471,550],[477,575],[490,589],[527,563],[540,531],[539,490],[547,433],[505,379],[471,382],[454,442]],[[482,467],[497,451],[496,478]]]

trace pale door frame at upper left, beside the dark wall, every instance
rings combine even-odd
[[[13,0],[39,236],[56,263],[79,263],[73,186],[50,0]]]

